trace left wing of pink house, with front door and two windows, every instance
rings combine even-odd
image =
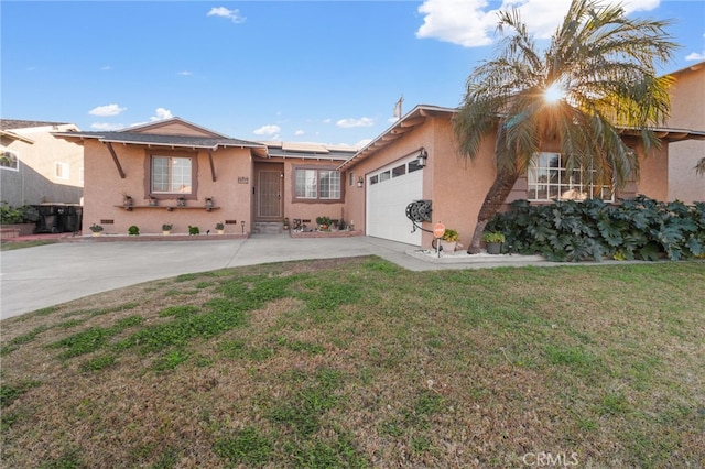
[[[335,168],[354,154],[323,145],[268,146],[180,118],[56,135],[84,146],[84,232],[98,223],[116,234],[131,226],[158,233],[164,223],[177,233],[189,226],[214,232],[219,222],[226,233],[249,234],[281,227],[284,217],[339,212],[344,195]],[[326,190],[318,184],[324,177]]]

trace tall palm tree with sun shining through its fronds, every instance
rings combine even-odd
[[[638,175],[638,157],[620,131],[638,135],[644,152],[660,144],[649,128],[670,110],[672,78],[655,73],[655,64],[669,62],[676,47],[664,31],[669,24],[628,19],[620,6],[573,0],[541,53],[518,10],[499,14],[499,53],[469,75],[454,117],[466,157],[475,159],[482,141],[497,135],[497,176],[468,252],[479,252],[485,226],[546,141],[558,143],[566,170],[592,168],[588,184],[619,187]]]

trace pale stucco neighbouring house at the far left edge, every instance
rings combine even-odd
[[[83,151],[52,133],[77,130],[73,123],[0,120],[0,199],[12,207],[78,204]]]

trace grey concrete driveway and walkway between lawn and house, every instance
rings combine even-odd
[[[3,251],[0,318],[184,273],[306,259],[379,255],[412,271],[542,264],[538,258],[434,259],[378,238],[292,239],[256,234],[223,241],[55,243]]]

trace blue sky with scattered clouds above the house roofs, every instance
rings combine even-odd
[[[0,116],[122,129],[177,116],[245,140],[360,144],[403,96],[455,107],[494,52],[496,10],[547,37],[568,0],[0,2]],[[631,0],[672,19],[669,73],[705,61],[705,1]]]

